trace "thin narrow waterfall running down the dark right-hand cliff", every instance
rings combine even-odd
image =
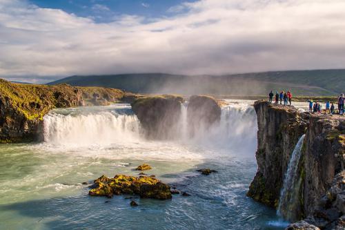
[[[299,138],[293,150],[290,162],[288,163],[288,169],[285,173],[283,188],[280,192],[277,214],[287,220],[294,220],[296,207],[299,202],[299,186],[301,181],[297,178],[297,170],[302,155],[304,136],[302,135]]]

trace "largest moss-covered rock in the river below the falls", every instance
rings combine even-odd
[[[136,194],[140,198],[153,198],[158,200],[171,199],[170,187],[153,177],[139,176],[139,178],[128,175],[115,175],[114,178],[107,178],[102,175],[94,181],[89,195],[106,196]]]

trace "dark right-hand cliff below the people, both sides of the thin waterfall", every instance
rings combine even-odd
[[[299,138],[306,134],[297,162],[297,202],[288,207],[285,218],[301,220],[314,215],[335,176],[344,171],[345,119],[301,113],[294,107],[268,102],[255,102],[254,107],[259,128],[258,169],[247,195],[277,208],[291,154]],[[336,210],[337,218],[344,215],[342,210]]]

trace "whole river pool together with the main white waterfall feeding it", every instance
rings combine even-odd
[[[274,209],[246,197],[257,171],[251,101],[229,100],[221,121],[186,135],[186,105],[173,140],[146,140],[130,105],[56,109],[44,142],[0,145],[0,229],[284,229]],[[88,185],[148,163],[148,173],[189,197],[88,196]],[[200,175],[208,167],[218,173]]]

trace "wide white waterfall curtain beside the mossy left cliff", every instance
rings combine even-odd
[[[137,117],[130,113],[130,106],[52,111],[43,117],[44,142],[90,146],[135,141],[140,126]]]

